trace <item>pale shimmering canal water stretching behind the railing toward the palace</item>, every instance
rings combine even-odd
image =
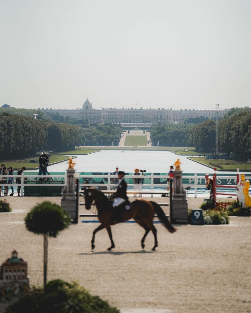
[[[134,172],[135,168],[146,170],[150,173],[167,173],[170,165],[179,158],[180,168],[183,173],[213,173],[213,169],[177,156],[170,151],[128,151],[120,150],[99,151],[88,155],[78,155],[76,172],[114,172],[118,166],[120,171]],[[50,172],[64,172],[67,163],[62,162],[48,167]]]

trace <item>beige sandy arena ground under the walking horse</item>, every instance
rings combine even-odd
[[[24,217],[36,203],[60,204],[60,198],[8,200],[13,212],[0,213],[0,262],[16,249],[28,261],[30,285],[42,285],[42,236],[25,229]],[[202,200],[188,201],[190,208],[198,208]],[[84,210],[82,206],[80,212]],[[78,223],[49,239],[48,279],[77,280],[122,313],[251,312],[251,219],[230,221],[220,226],[178,225],[174,234],[156,224],[156,252],[151,251],[151,233],[142,251],[144,231],[136,224],[112,227],[112,252],[106,251],[109,237],[101,230],[92,252],[91,236],[98,224]]]

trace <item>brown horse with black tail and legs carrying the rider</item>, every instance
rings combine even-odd
[[[84,198],[85,207],[87,210],[91,208],[93,200],[95,201],[96,207],[98,209],[98,218],[101,223],[101,225],[93,231],[93,237],[91,241],[92,249],[95,248],[95,234],[99,230],[106,228],[109,234],[109,238],[111,240],[111,246],[107,249],[110,251],[111,249],[115,248],[110,227],[110,225],[112,225],[114,221],[114,213],[111,210],[110,201],[102,192],[100,192],[96,188],[86,189],[84,192]],[[116,209],[118,208],[115,208],[115,210]],[[131,203],[131,209],[122,213],[122,222],[133,218],[140,226],[145,229],[145,234],[141,240],[142,249],[144,249],[145,247],[144,242],[150,230],[152,230],[152,233],[154,235],[154,247],[152,248],[152,250],[155,250],[155,248],[158,247],[157,229],[153,226],[152,223],[154,213],[157,213],[158,218],[161,220],[161,222],[169,230],[170,233],[174,233],[176,231],[176,229],[168,221],[162,208],[153,201],[135,200]]]

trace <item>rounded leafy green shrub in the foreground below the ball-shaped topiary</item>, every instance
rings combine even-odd
[[[92,296],[76,282],[69,284],[63,280],[52,280],[44,291],[34,289],[17,302],[10,305],[7,313],[119,313],[108,302]]]

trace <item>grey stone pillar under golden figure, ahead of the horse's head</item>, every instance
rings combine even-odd
[[[66,187],[62,191],[61,207],[69,213],[70,217],[73,219],[72,223],[77,223],[78,203],[74,173],[75,170],[73,168],[67,169]]]

